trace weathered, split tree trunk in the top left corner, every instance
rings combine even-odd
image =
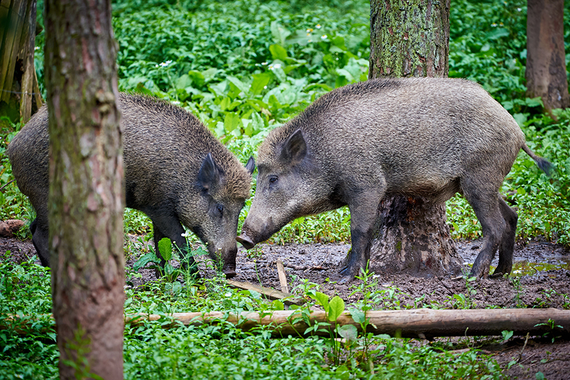
[[[35,76],[36,0],[0,1],[0,116],[27,122],[42,106]]]

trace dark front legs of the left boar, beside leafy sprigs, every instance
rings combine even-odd
[[[154,228],[154,248],[156,249],[156,256],[161,259],[161,267],[164,267],[166,263],[158,250],[158,242],[163,238],[169,238],[170,241],[172,241],[172,249],[179,250],[183,257],[186,256],[186,254],[188,254],[186,251],[186,238],[182,236],[184,228],[178,218],[174,215],[156,215],[150,218]],[[194,258],[188,256],[187,259],[188,261],[183,261],[183,267],[186,268],[189,266],[190,272],[197,272],[197,268],[194,265]]]

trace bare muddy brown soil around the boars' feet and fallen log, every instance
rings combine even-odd
[[[131,242],[142,244],[141,240],[131,236]],[[234,280],[280,289],[276,265],[280,258],[286,267],[291,292],[301,294],[304,287],[314,283],[318,284],[320,291],[330,296],[339,295],[350,303],[357,301],[359,295],[352,294],[352,288],[361,281],[337,282],[349,248],[344,244],[260,245],[251,251],[241,248],[237,261],[238,276]],[[479,241],[457,242],[465,272],[469,271],[468,265],[475,260],[479,248]],[[0,238],[0,252],[8,250],[10,254],[0,257],[0,260],[8,258],[21,262],[35,254],[30,241]],[[552,242],[532,241],[526,245],[517,244],[514,256],[513,274],[516,276],[512,279],[466,281],[446,275],[419,278],[407,274],[374,274],[372,281],[377,282],[377,289],[384,291],[385,295],[377,307],[382,309],[399,302],[400,308],[414,305],[459,308],[468,305],[471,308],[570,309],[570,251]],[[127,266],[132,266],[136,258],[137,254],[133,254],[127,260]],[[199,263],[202,275],[211,276],[207,261],[201,258]],[[496,261],[491,265],[496,265]],[[154,279],[152,270],[142,269],[140,273],[142,279],[136,279],[131,286]],[[439,340],[450,341],[448,338]],[[468,345],[493,355],[509,379],[537,379],[537,372],[542,372],[544,379],[548,380],[570,379],[570,341],[564,338],[520,336],[501,342],[496,338],[480,337],[451,341],[457,349]],[[509,366],[509,363],[514,365]]]

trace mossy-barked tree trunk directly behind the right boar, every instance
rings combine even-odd
[[[368,79],[448,75],[449,0],[371,0]],[[371,269],[416,275],[456,273],[460,260],[445,204],[386,197],[378,208]]]

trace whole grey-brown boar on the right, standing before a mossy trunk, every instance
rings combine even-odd
[[[462,79],[377,79],[323,95],[271,131],[258,151],[257,190],[238,241],[247,249],[297,217],[348,205],[351,279],[370,256],[377,208],[386,195],[442,202],[461,192],[485,242],[471,274],[512,270],[517,215],[498,190],[523,149],[512,116],[480,85]]]

